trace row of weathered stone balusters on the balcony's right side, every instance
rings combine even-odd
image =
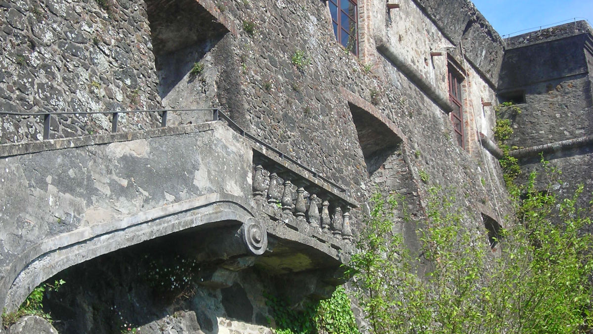
[[[253,198],[279,221],[294,221],[297,229],[307,224],[338,239],[352,240],[352,203],[285,166],[256,158]]]

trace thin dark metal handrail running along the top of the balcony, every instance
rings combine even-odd
[[[235,123],[231,117],[228,117],[226,114],[222,113],[218,108],[205,108],[205,109],[152,109],[152,110],[112,110],[112,111],[104,111],[104,112],[37,112],[37,113],[19,113],[19,112],[3,112],[0,110],[0,115],[11,115],[11,116],[43,116],[43,140],[49,139],[49,125],[52,120],[52,115],[64,115],[64,114],[112,114],[113,117],[111,118],[111,133],[117,132],[117,120],[119,118],[120,113],[150,113],[150,112],[162,112],[162,119],[161,119],[161,128],[167,126],[167,113],[168,112],[205,112],[211,111],[212,112],[212,120],[219,120],[224,119],[227,121],[229,128],[233,129],[235,132],[239,133],[241,136],[250,139],[251,141],[256,142],[259,145],[269,149],[272,152],[275,152],[279,155],[281,159],[290,161],[291,163],[297,165],[298,167],[302,168],[305,171],[308,171],[315,177],[316,179],[320,179],[325,183],[333,186],[337,190],[342,193],[348,195],[347,190],[343,187],[337,185],[333,181],[327,179],[323,175],[318,174],[316,171],[312,170],[311,168],[304,166],[303,164],[299,163],[294,158],[290,157],[289,155],[285,154],[282,151],[272,147],[272,145],[267,144],[266,142],[262,141],[256,136],[251,135],[245,131],[241,126]]]

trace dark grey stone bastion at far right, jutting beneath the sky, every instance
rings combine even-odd
[[[588,206],[593,192],[592,36],[586,21],[576,21],[511,37],[499,80],[503,100],[519,103],[522,110],[506,113],[514,130],[508,144],[519,147],[511,155],[520,158],[522,178],[543,171],[539,153],[544,152],[550,167],[562,170],[563,182],[552,185],[561,197],[584,186],[581,207]],[[548,182],[540,173],[537,186],[543,189]]]

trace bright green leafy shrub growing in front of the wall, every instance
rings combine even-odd
[[[547,171],[553,180],[556,172]],[[393,233],[396,196],[372,198],[349,273],[373,333],[574,333],[590,328],[593,269],[590,209],[534,189],[535,173],[511,228],[501,230],[500,255],[487,238],[464,228],[452,196],[433,187],[421,257]],[[554,220],[560,217],[562,223]],[[422,268],[428,272],[422,275]]]

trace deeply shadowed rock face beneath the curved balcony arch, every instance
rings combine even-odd
[[[271,333],[267,319],[273,316],[262,293],[275,294],[273,280],[251,269],[229,271],[228,284],[212,288],[205,272],[213,262],[197,261],[199,252],[170,243],[173,240],[179,239],[151,241],[60,273],[66,284],[44,300],[60,334],[131,329],[154,334]]]

